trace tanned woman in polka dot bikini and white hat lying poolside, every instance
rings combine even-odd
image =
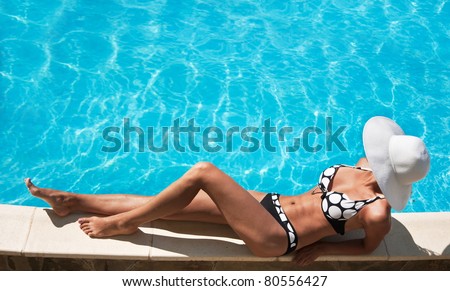
[[[404,135],[390,119],[369,120],[364,148],[367,159],[360,159],[355,167],[329,167],[315,188],[296,196],[247,191],[208,162],[197,163],[152,197],[75,194],[36,187],[28,178],[25,183],[57,215],[76,211],[104,216],[78,220],[90,237],[131,234],[156,219],[227,224],[256,256],[296,251],[293,261],[307,265],[322,255],[361,255],[375,250],[390,230],[391,206],[402,209],[411,184],[428,171],[423,142]],[[321,241],[354,229],[363,229],[365,237]]]

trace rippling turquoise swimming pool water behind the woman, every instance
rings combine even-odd
[[[24,177],[153,195],[200,160],[249,189],[301,193],[328,165],[355,163],[363,123],[384,115],[431,153],[405,211],[450,211],[449,27],[447,0],[1,0],[0,203],[45,205]],[[177,120],[239,131],[210,147],[195,133],[197,148],[181,134],[182,152],[164,131]],[[265,139],[265,120],[292,132]],[[154,145],[167,133],[167,150],[148,147],[147,128]]]

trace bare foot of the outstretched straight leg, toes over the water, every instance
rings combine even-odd
[[[31,195],[41,198],[50,204],[57,215],[66,216],[71,212],[71,206],[74,203],[74,194],[36,187],[30,178],[25,179],[25,185],[27,185]]]

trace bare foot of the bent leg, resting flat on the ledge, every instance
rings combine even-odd
[[[132,234],[137,226],[127,225],[121,214],[107,217],[83,217],[78,219],[81,230],[90,237],[107,237],[120,234]]]

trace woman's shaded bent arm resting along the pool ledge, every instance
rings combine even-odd
[[[372,217],[364,225],[366,236],[363,239],[343,242],[318,241],[299,249],[292,259],[300,266],[314,262],[319,256],[364,255],[372,253],[390,230],[390,216]]]

